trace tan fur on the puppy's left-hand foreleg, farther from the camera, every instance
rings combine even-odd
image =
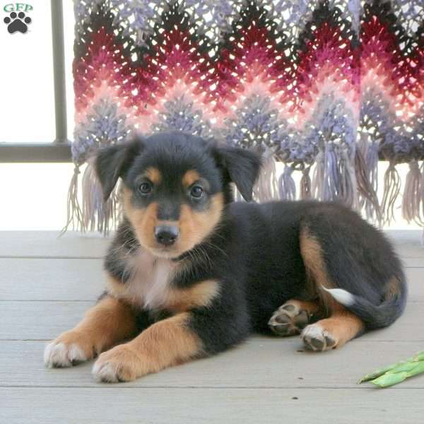
[[[136,334],[136,317],[129,305],[106,297],[86,312],[82,321],[54,340],[66,346],[77,344],[87,359]]]

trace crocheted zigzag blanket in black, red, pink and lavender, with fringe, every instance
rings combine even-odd
[[[97,148],[172,129],[260,151],[257,201],[340,199],[381,224],[403,196],[404,217],[423,223],[423,0],[74,4],[68,225],[107,232],[117,219],[118,192],[103,204],[90,164]]]

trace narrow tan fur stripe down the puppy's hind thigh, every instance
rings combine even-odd
[[[329,293],[322,290],[322,287],[334,288],[334,284],[327,274],[321,246],[318,240],[310,235],[307,228],[300,232],[300,252],[305,262],[308,295],[310,298],[319,295],[325,307],[332,310],[336,301]]]

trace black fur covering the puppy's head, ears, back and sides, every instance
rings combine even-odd
[[[301,250],[302,234],[319,247],[322,269],[331,282],[327,288],[348,292],[334,295],[338,305],[358,317],[364,329],[394,322],[405,307],[406,283],[401,263],[382,232],[337,203],[234,203],[231,183],[251,200],[259,166],[254,153],[223,148],[179,132],[107,148],[97,158],[105,199],[122,177],[130,193],[131,210],[146,210],[155,203],[159,220],[179,222],[182,205],[194,213],[208,213],[213,196],[223,194],[219,219],[203,240],[186,251],[168,254],[165,248],[154,250],[158,257],[163,254],[176,263],[188,264],[172,278],[172,288],[186,289],[200,281],[218,282],[219,294],[212,302],[188,311],[189,328],[201,340],[203,352],[210,355],[224,351],[252,331],[268,332],[271,315],[290,299],[323,299],[318,274],[312,275],[312,290],[308,283],[311,275]],[[140,194],[139,177],[151,167],[160,172],[160,182],[152,192]],[[190,198],[182,188],[182,179],[190,170],[201,179],[202,199]],[[146,249],[128,215],[105,261],[107,273],[122,285],[131,278],[129,257]],[[139,330],[173,313],[166,305],[139,308]]]

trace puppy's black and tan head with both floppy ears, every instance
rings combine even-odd
[[[105,200],[121,177],[124,213],[139,242],[167,258],[211,234],[232,201],[230,182],[251,200],[259,167],[252,152],[181,132],[111,146],[95,160]]]

